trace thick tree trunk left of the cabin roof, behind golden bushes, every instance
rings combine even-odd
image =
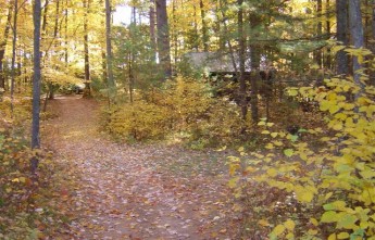
[[[172,76],[170,28],[166,13],[166,0],[157,0],[158,49],[159,59],[164,71],[164,79]]]

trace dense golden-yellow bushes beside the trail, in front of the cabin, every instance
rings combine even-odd
[[[177,77],[164,88],[109,113],[107,129],[126,139],[180,138],[192,148],[230,144],[240,134],[236,105],[214,99],[202,80]]]

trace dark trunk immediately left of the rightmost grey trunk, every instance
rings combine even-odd
[[[348,0],[336,0],[337,40],[343,46],[348,45]],[[337,52],[337,74],[349,73],[349,58],[343,50]]]

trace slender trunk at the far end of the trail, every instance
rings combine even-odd
[[[84,54],[85,54],[85,91],[84,97],[90,97],[90,61],[88,49],[88,13],[90,9],[90,0],[84,0]]]

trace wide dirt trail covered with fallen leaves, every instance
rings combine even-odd
[[[235,239],[224,153],[115,143],[98,131],[95,100],[49,104],[43,144],[76,182],[60,187],[74,220],[57,239]]]

